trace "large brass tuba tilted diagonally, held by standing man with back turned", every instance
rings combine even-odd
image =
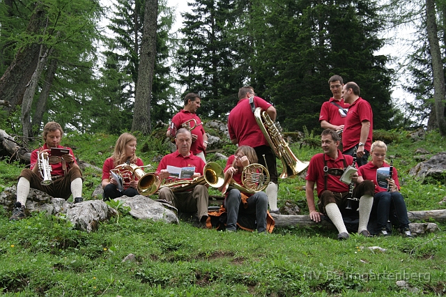
[[[257,107],[254,112],[254,117],[263,135],[265,135],[268,144],[270,144],[272,151],[282,161],[283,172],[279,177],[293,177],[304,171],[308,167],[309,162],[301,162],[295,157],[281,134],[282,129],[272,121],[269,114],[261,107]]]

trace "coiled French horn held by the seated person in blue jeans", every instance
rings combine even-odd
[[[229,176],[229,178],[224,181],[221,190],[224,194],[229,187],[233,187],[240,192],[254,194],[265,190],[269,182],[270,173],[268,172],[268,169],[261,164],[252,163],[243,167],[241,185],[234,181],[232,176]]]

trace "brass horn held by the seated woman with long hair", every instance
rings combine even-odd
[[[130,178],[130,180],[138,179],[137,190],[139,194],[143,196],[152,195],[158,188],[160,188],[161,181],[160,177],[153,173],[146,173],[136,164],[123,163],[112,169],[112,171],[123,178]],[[127,183],[128,185],[128,183]]]

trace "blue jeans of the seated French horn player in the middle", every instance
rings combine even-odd
[[[226,199],[224,199],[223,206],[226,208],[227,221],[226,229],[235,231],[237,229],[238,215],[242,213],[256,214],[257,231],[266,231],[266,212],[268,211],[268,197],[265,192],[256,192],[247,199],[248,207],[244,208],[242,204],[242,196],[240,191],[232,189]]]

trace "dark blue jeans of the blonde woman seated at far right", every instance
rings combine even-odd
[[[378,192],[374,196],[374,204],[376,205],[376,216],[379,229],[385,229],[391,211],[395,211],[397,214],[400,228],[409,227],[406,203],[400,192]]]

